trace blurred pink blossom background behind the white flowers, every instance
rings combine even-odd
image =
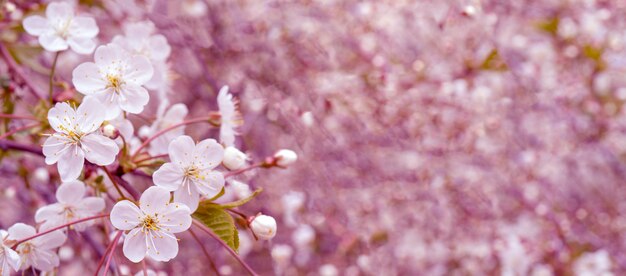
[[[3,26],[33,2],[13,1]],[[242,231],[241,255],[262,275],[626,273],[625,1],[80,2],[101,43],[125,22],[154,23],[172,46],[168,95],[189,117],[229,85],[239,148],[253,160],[298,153],[288,169],[237,179],[264,188],[243,210],[278,220],[271,242]],[[47,67],[52,55],[35,58]],[[61,56],[59,74],[90,58]],[[3,227],[32,220],[36,206],[7,187],[35,177],[19,176],[23,164],[44,167],[5,160]],[[181,239],[175,260],[151,266],[207,273]],[[221,274],[244,273],[206,246]]]

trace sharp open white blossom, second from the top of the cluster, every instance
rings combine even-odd
[[[76,90],[98,99],[106,120],[119,116],[122,110],[141,113],[150,99],[143,87],[152,78],[150,61],[130,55],[115,43],[98,47],[94,60],[78,65],[72,72]]]

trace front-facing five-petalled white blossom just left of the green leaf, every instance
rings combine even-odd
[[[124,239],[124,256],[138,263],[149,256],[169,261],[178,254],[174,233],[191,227],[191,211],[184,204],[170,203],[170,193],[161,187],[148,188],[139,199],[139,207],[122,200],[111,210],[111,223],[119,230],[130,230]]]

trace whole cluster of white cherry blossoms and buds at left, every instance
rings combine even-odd
[[[76,106],[59,102],[47,114],[54,133],[45,134],[48,137],[43,143],[43,154],[46,164],[57,164],[62,181],[56,191],[57,202],[38,209],[37,228],[17,223],[8,232],[0,230],[0,274],[9,275],[11,268],[53,270],[59,265],[56,251],[65,243],[68,231],[84,231],[96,219],[105,217],[125,232],[123,252],[130,261],[140,262],[146,256],[169,261],[178,254],[174,234],[190,228],[191,214],[201,198],[213,198],[224,189],[223,171],[245,170],[247,166],[248,156],[235,147],[236,128],[242,124],[236,100],[227,86],[219,91],[219,117],[215,118],[219,118],[221,143],[214,139],[196,143],[184,135],[187,107],[168,106],[164,91],[168,87],[167,59],[171,48],[163,35],[155,34],[151,22],[128,24],[123,36],[96,47],[96,21],[77,16],[73,5],[50,3],[45,15],[33,15],[23,21],[25,30],[38,36],[45,50],[59,52],[71,48],[89,54],[95,49],[94,61],[82,63],[72,72],[74,88],[84,95],[81,103]],[[126,116],[144,110],[150,99],[149,90],[158,92],[159,112],[154,123],[140,128],[135,136]],[[211,120],[209,117],[205,121],[216,122]],[[144,148],[146,152],[142,151]],[[121,167],[122,154],[131,162],[137,161],[138,155],[151,159],[164,154],[170,161],[154,172],[155,186],[135,198],[138,201],[126,199],[115,186],[121,200],[114,200],[107,214],[104,196],[111,195],[88,189],[91,185],[85,183],[93,181],[88,174],[95,171],[106,172],[109,183],[117,185],[119,179],[111,176],[107,166]],[[273,158],[274,166],[284,167],[297,157],[292,151],[281,151]],[[100,168],[90,169],[81,178],[84,168],[94,165]],[[224,170],[218,169],[220,165]],[[271,239],[276,234],[276,221],[259,215],[251,219],[250,228],[258,237]],[[118,232],[113,242],[121,234]]]

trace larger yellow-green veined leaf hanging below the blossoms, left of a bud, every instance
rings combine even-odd
[[[193,213],[193,217],[213,230],[230,248],[238,252],[239,233],[235,227],[235,220],[226,210],[217,204],[205,200],[200,202],[198,210]]]

